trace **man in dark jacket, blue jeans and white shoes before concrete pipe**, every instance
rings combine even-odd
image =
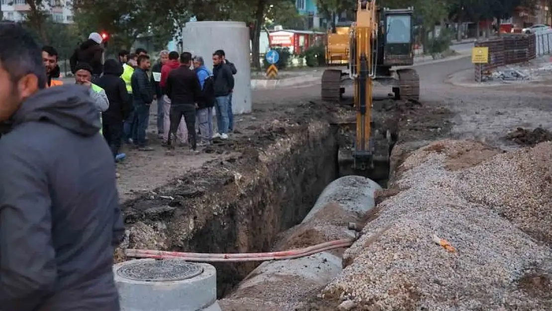
[[[224,62],[224,52],[218,50],[213,54],[213,88],[216,98],[216,123],[218,133],[213,138],[228,139],[228,107],[230,93],[234,88],[234,77],[228,64]]]

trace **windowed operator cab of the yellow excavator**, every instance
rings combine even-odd
[[[383,64],[384,66],[410,66],[413,64],[412,9],[384,9]]]

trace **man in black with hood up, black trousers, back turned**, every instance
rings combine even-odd
[[[95,82],[95,85],[104,89],[109,99],[109,108],[102,113],[102,133],[115,159],[124,157],[123,154],[119,155],[123,139],[123,121],[132,110],[130,94],[126,91],[125,81],[121,78],[122,74],[123,66],[118,61],[106,60],[104,74]]]

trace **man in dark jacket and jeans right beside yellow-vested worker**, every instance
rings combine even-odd
[[[131,78],[135,123],[132,141],[139,150],[152,151],[152,147],[146,146],[146,130],[150,121],[150,106],[153,102],[153,87],[147,75],[151,66],[150,56],[138,56],[137,63],[138,66]]]

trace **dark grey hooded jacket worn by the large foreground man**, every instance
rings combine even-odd
[[[0,139],[0,310],[119,311],[113,155],[82,86],[44,89]]]

